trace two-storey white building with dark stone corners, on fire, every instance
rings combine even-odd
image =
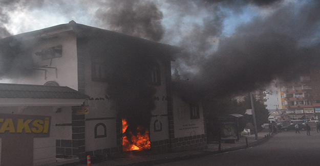
[[[1,39],[2,78],[29,84],[26,88],[67,86],[83,95],[81,104],[49,114],[50,128],[59,131],[50,133],[55,150],[45,152],[51,158],[39,158],[41,152],[33,149],[33,165],[55,162],[55,157],[81,160],[126,151],[206,148],[201,101],[181,98],[172,86],[170,62],[181,50],[74,21]],[[10,113],[3,111],[6,105],[0,107],[0,113]],[[12,114],[28,114],[24,110]],[[4,134],[11,132],[0,132],[0,137]]]

